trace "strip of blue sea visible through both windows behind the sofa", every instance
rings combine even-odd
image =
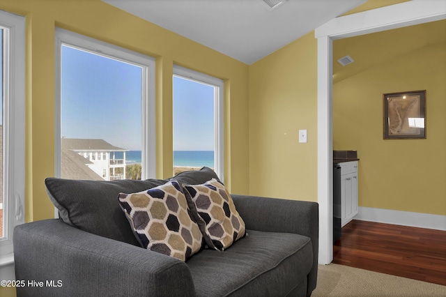
[[[116,153],[116,158],[122,158],[122,155]],[[141,151],[125,152],[125,163],[141,164]],[[214,168],[214,151],[174,151],[174,166]]]

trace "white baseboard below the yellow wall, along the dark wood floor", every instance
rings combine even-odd
[[[446,215],[411,213],[409,211],[392,211],[390,209],[360,206],[353,220],[400,224],[403,226],[446,231]]]

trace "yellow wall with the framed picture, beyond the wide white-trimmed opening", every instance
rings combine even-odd
[[[444,31],[446,21],[440,22]],[[414,38],[417,27],[398,30],[398,38],[375,33],[379,41],[360,36],[343,46],[359,42],[370,48],[378,42],[394,48],[406,38],[423,44]],[[360,206],[446,215],[446,35],[432,31],[422,36],[434,33],[436,43],[411,52],[401,46],[401,54],[334,84],[333,145],[358,151]],[[385,54],[376,51],[369,59],[380,61]],[[427,139],[384,140],[383,93],[417,90],[426,90]]]

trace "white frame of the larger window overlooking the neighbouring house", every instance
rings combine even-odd
[[[155,138],[155,59],[123,47],[104,43],[71,31],[56,28],[56,102],[55,102],[55,175],[61,176],[61,48],[62,45],[77,48],[111,59],[132,63],[143,69],[141,103],[141,178],[153,178],[156,174]]]

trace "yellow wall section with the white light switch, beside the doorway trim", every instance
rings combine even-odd
[[[307,129],[308,143],[298,142]],[[249,193],[317,201],[314,32],[249,66]]]

